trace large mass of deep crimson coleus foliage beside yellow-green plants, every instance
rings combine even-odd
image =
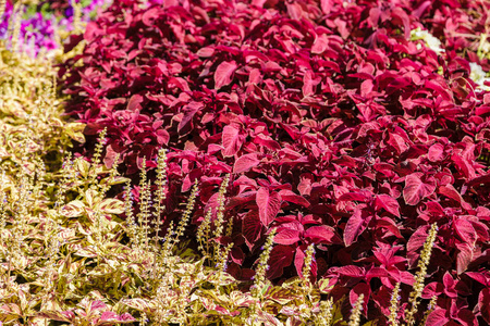
[[[61,70],[68,112],[87,136],[108,128],[106,163],[120,153],[127,175],[169,148],[167,210],[199,179],[195,223],[230,173],[236,277],[278,227],[270,278],[301,274],[315,243],[313,275],[352,289],[351,302],[364,293],[364,313],[384,321],[437,223],[429,286],[451,289],[429,319],[490,323],[490,174],[478,160],[490,93],[475,91],[468,60],[490,65],[463,53],[460,32],[442,36],[443,12],[455,12],[450,27],[473,15],[455,1],[118,1]],[[467,20],[473,30],[485,16]],[[416,27],[445,52],[411,40]]]

